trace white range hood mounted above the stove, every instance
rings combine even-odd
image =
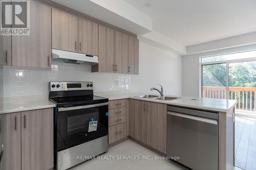
[[[86,65],[95,65],[99,63],[98,56],[67,52],[56,49],[52,49],[52,61]]]

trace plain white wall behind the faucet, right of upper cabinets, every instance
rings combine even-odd
[[[161,84],[165,94],[181,95],[181,56],[140,41],[139,75],[131,76],[131,91],[154,92]]]

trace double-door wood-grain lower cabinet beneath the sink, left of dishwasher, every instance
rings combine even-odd
[[[129,100],[129,136],[166,154],[167,105]]]

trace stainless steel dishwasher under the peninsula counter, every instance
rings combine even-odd
[[[168,106],[167,156],[194,170],[218,170],[218,112]]]

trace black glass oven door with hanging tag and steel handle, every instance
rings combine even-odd
[[[57,152],[108,135],[108,103],[58,108]]]

